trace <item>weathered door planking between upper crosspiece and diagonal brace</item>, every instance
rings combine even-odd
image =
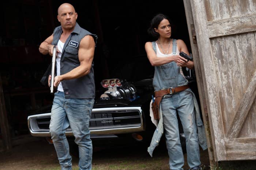
[[[241,103],[256,68],[256,42],[252,32],[211,39],[225,133]]]

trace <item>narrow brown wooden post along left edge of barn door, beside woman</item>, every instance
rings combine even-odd
[[[215,145],[213,145],[213,143],[212,143],[212,141],[214,141],[214,135],[211,135],[212,124],[210,124],[210,122],[209,122],[209,115],[208,115],[207,106],[206,106],[206,97],[205,97],[205,92],[204,92],[204,83],[206,80],[202,76],[202,74],[204,74],[204,73],[202,73],[202,72],[204,72],[204,70],[202,69],[201,64],[200,64],[200,58],[199,58],[197,43],[196,43],[196,39],[195,39],[196,33],[195,33],[195,27],[194,27],[194,21],[193,21],[190,0],[183,0],[183,2],[184,2],[185,14],[186,14],[187,25],[188,25],[189,39],[191,42],[192,54],[193,54],[193,58],[194,58],[197,88],[198,88],[198,93],[200,96],[204,128],[206,131],[209,160],[210,160],[210,165],[212,167],[215,167],[218,165],[218,163],[214,161],[215,159],[217,159],[216,156],[214,158],[214,151],[216,151],[216,149],[215,149]],[[216,153],[215,153],[215,155],[216,155]]]

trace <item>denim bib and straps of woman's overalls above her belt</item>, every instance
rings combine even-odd
[[[155,41],[152,42],[153,50],[157,54],[157,48]],[[172,54],[176,55],[177,42],[173,39],[173,51]],[[153,78],[154,90],[162,90],[170,87],[184,86],[188,84],[188,80],[180,73],[180,67],[176,62],[170,62],[163,64],[162,66],[155,66],[155,73]]]

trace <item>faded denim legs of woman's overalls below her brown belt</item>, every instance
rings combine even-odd
[[[189,167],[199,166],[200,153],[196,132],[193,96],[191,92],[182,91],[161,101],[166,147],[169,165],[172,170],[182,170],[184,156],[182,153],[178,128],[177,112],[186,138],[187,160]],[[177,111],[177,112],[176,112]]]

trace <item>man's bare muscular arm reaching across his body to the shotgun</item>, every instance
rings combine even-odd
[[[57,87],[63,80],[76,79],[89,74],[93,62],[95,42],[92,36],[87,35],[80,41],[78,58],[80,66],[67,72],[66,74],[54,78],[54,87]]]

